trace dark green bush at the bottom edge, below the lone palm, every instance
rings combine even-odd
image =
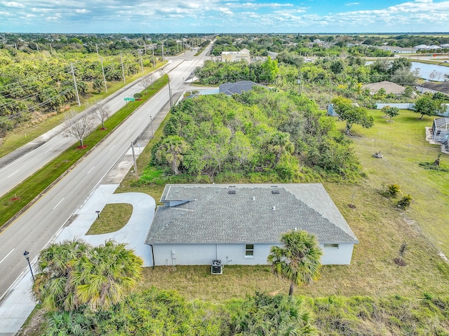
[[[230,312],[232,335],[319,335],[301,299],[255,293]]]

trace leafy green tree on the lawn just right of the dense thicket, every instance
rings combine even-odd
[[[363,128],[373,127],[373,117],[368,116],[368,111],[366,109],[352,104],[351,99],[335,97],[332,102],[338,116],[346,121],[346,134],[349,134],[349,130],[351,130],[351,127],[354,124],[361,125]]]

